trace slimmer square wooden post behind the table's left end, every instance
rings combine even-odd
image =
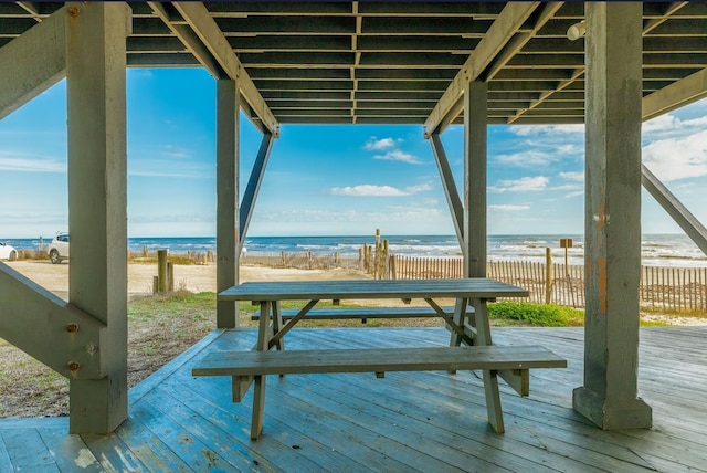
[[[236,81],[217,81],[217,292],[239,283],[240,99]],[[217,326],[239,326],[236,303],[217,302]]]

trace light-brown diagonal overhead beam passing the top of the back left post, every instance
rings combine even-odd
[[[261,119],[263,126],[277,137],[279,124],[263,99],[253,81],[247,75],[245,67],[233,53],[229,41],[219,29],[217,22],[201,2],[176,2],[175,8],[189,23],[194,33],[199,36],[203,45],[218,61],[225,74],[234,81],[239,81],[240,92],[249,103],[252,111]]]

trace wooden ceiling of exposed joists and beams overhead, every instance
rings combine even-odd
[[[468,75],[488,82],[490,124],[583,122],[584,39],[567,36],[581,2],[203,4],[202,20],[220,30],[212,40],[178,3],[129,3],[128,65],[203,64],[228,76],[213,53],[228,44],[279,124],[458,123]],[[0,46],[62,6],[0,3]],[[706,2],[646,2],[643,14],[644,96],[707,67]]]

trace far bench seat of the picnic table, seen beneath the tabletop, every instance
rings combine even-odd
[[[454,307],[442,307],[447,314],[454,313]],[[283,320],[296,316],[299,309],[283,309]],[[474,307],[466,309],[467,315],[474,314]],[[304,319],[356,319],[356,318],[413,318],[439,317],[439,314],[430,306],[421,307],[342,307],[342,308],[313,308],[304,316]],[[260,313],[251,316],[252,320],[260,319]]]

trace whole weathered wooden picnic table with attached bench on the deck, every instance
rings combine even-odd
[[[497,297],[527,296],[526,290],[488,278],[414,281],[327,281],[244,283],[219,294],[222,301],[258,303],[258,330],[251,351],[208,354],[192,368],[193,376],[231,376],[232,399],[240,401],[254,383],[251,439],[263,430],[267,375],[318,372],[376,372],[426,370],[483,370],[488,422],[503,433],[498,377],[521,396],[529,392],[530,368],[560,368],[567,361],[539,346],[495,346],[486,303]],[[449,347],[285,350],[284,336],[321,299],[423,298],[432,315],[442,317],[451,332]],[[455,298],[452,313],[435,298]],[[285,324],[281,301],[309,301]],[[473,312],[467,311],[473,307]],[[404,308],[404,307],[403,307]],[[469,315],[467,316],[467,313]],[[359,318],[360,316],[356,317]],[[467,324],[466,318],[473,319]],[[271,325],[272,323],[272,325]],[[467,346],[461,346],[462,344]],[[271,350],[276,347],[278,350]]]

